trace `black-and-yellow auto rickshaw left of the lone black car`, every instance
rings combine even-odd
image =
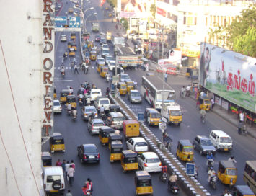
[[[50,137],[50,153],[55,151],[65,152],[64,137],[61,133],[53,133],[53,136]]]

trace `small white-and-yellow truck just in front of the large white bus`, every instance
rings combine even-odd
[[[180,105],[173,103],[172,105],[164,105],[163,117],[167,119],[167,124],[180,125],[182,123],[182,112]]]

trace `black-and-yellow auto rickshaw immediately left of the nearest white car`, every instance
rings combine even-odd
[[[137,153],[131,150],[123,150],[121,165],[123,167],[123,172],[127,172],[129,170],[138,170],[138,157]]]

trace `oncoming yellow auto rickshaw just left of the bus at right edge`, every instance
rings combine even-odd
[[[219,161],[218,178],[223,184],[234,186],[237,182],[237,168],[233,161]]]

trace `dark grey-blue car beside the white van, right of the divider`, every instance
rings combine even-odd
[[[216,148],[211,143],[210,138],[205,135],[198,135],[193,140],[193,145],[195,146],[195,150],[200,152],[200,155],[207,154],[208,152],[216,153]]]

